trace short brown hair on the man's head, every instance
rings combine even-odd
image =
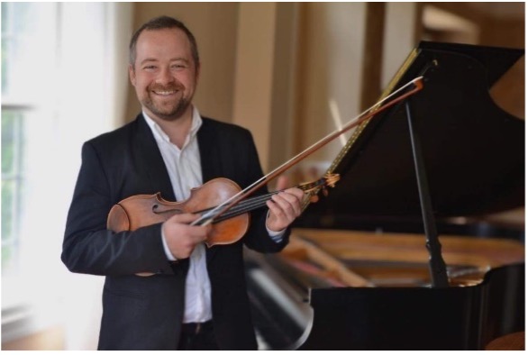
[[[187,34],[187,38],[189,39],[189,42],[191,43],[191,54],[193,56],[193,59],[195,60],[196,67],[200,64],[200,56],[198,55],[198,46],[196,44],[196,39],[193,33],[190,32],[187,26],[181,21],[178,21],[177,19],[169,17],[169,16],[159,16],[159,17],[151,19],[147,23],[144,23],[132,35],[132,39],[129,45],[129,63],[132,65],[132,67],[135,65],[135,62],[136,62],[136,44],[138,42],[138,38],[140,37],[141,32],[152,31],[152,30],[163,30],[166,28],[178,28],[179,30]]]

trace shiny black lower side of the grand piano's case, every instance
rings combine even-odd
[[[301,350],[483,350],[524,329],[524,264],[472,287],[313,289],[310,304]]]

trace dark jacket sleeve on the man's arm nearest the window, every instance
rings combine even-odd
[[[106,218],[113,201],[105,166],[91,142],[82,163],[68,211],[61,259],[72,272],[94,275],[172,273],[161,241],[160,223],[134,232],[111,232]]]

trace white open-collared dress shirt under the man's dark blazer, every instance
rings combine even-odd
[[[191,188],[203,185],[200,151],[196,133],[202,125],[202,117],[196,107],[193,107],[191,129],[181,150],[170,142],[168,135],[161,130],[145,112],[145,120],[150,126],[154,139],[167,167],[168,177],[177,201],[184,201],[190,196]],[[281,241],[284,231],[269,231],[274,241]],[[165,237],[162,235],[163,247],[169,260],[176,260],[168,250]],[[207,274],[205,260],[205,244],[196,245],[190,256],[189,271],[186,279],[185,315],[183,323],[202,323],[213,317],[211,311],[211,281]]]

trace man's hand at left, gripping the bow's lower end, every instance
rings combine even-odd
[[[213,228],[190,225],[199,217],[198,214],[176,214],[161,226],[168,249],[176,259],[190,257],[197,244],[205,241]]]

